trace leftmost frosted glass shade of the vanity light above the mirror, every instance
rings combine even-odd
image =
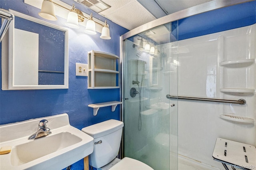
[[[42,3],[41,11],[38,13],[39,16],[46,20],[56,21],[55,8],[52,0],[44,0]]]

